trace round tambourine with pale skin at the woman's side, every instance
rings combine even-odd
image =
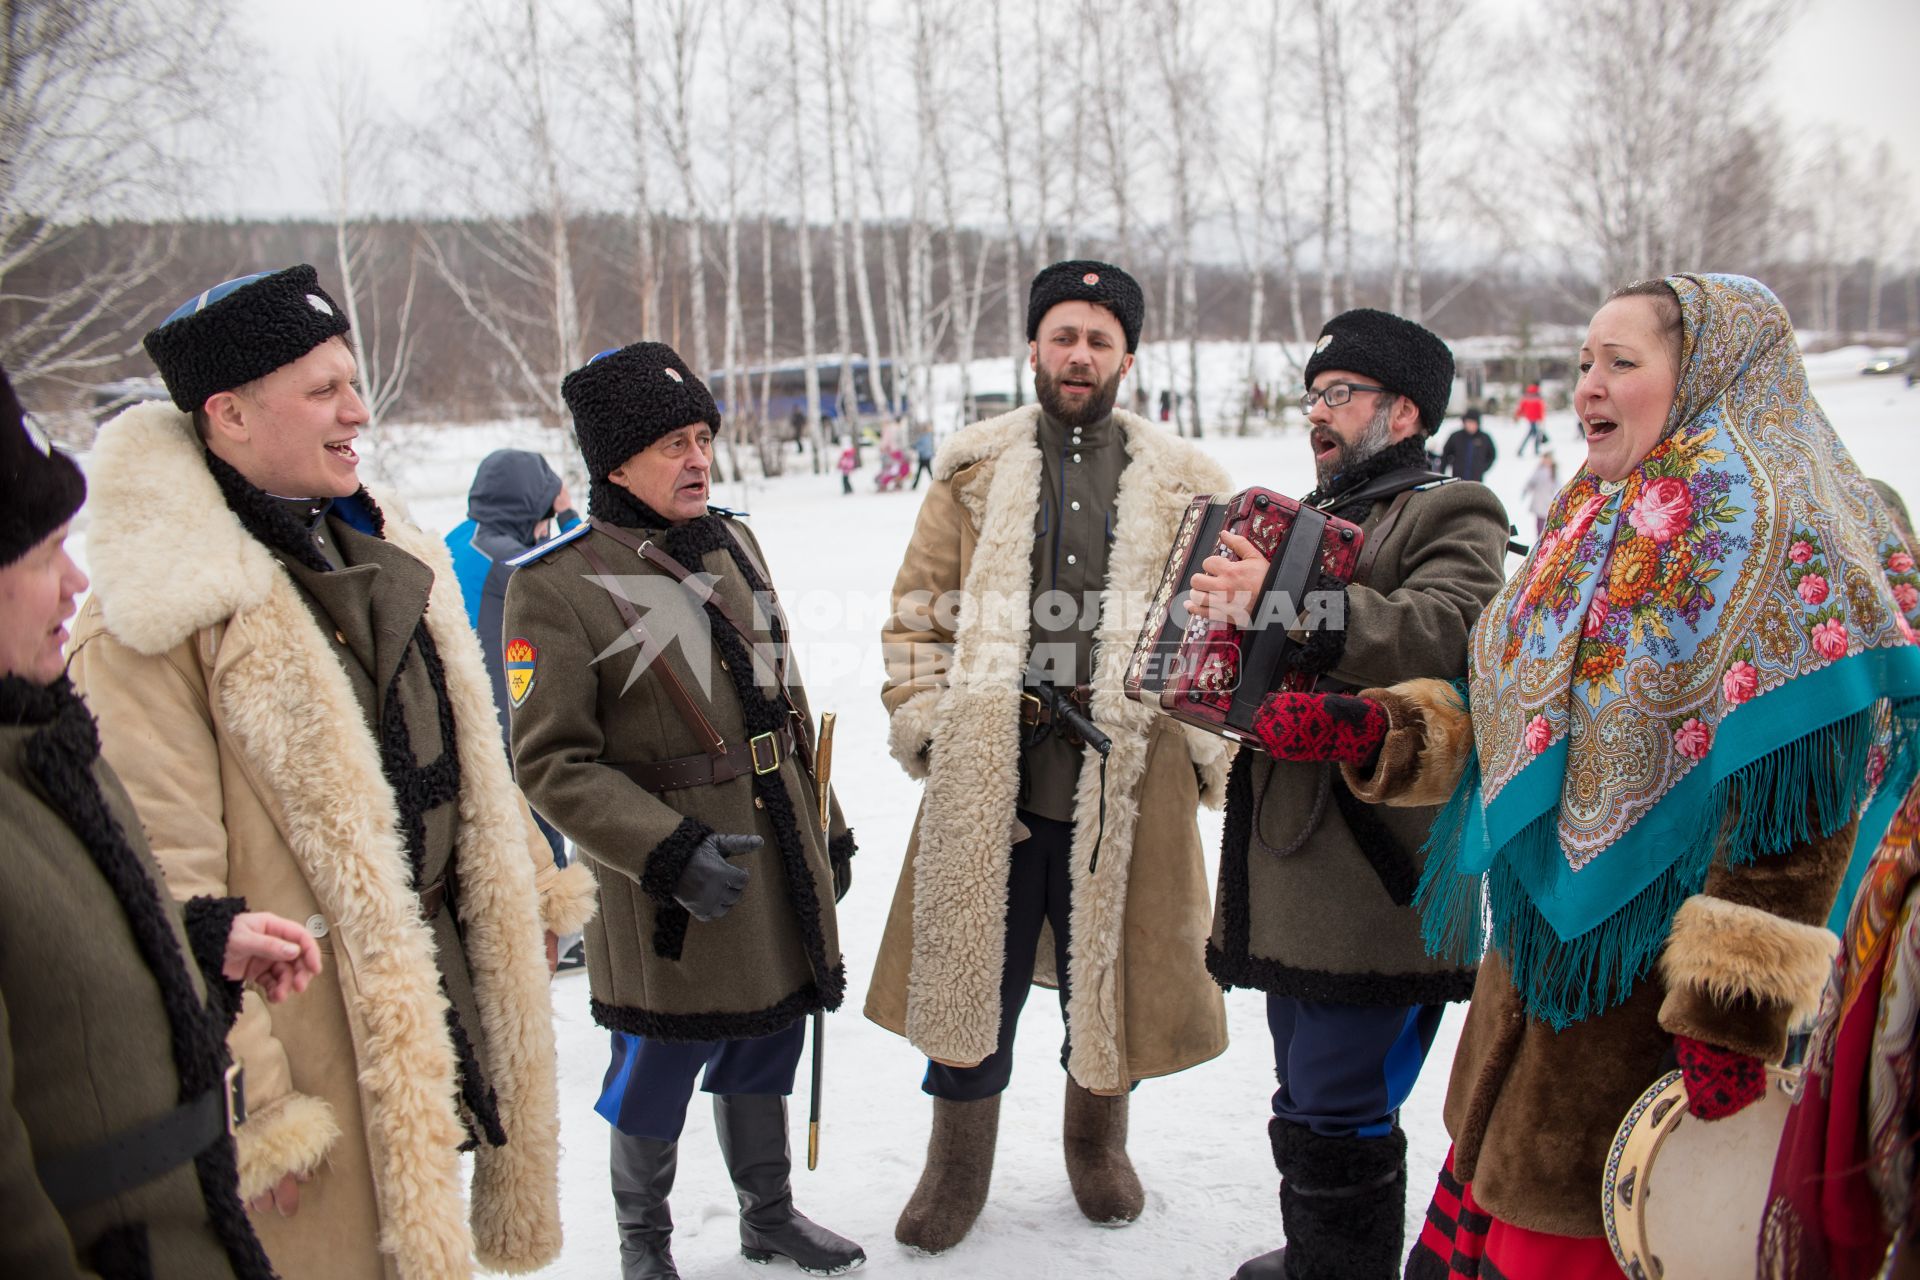
[[[1601,1219],[1632,1280],[1751,1280],[1774,1153],[1799,1071],[1766,1069],[1759,1102],[1720,1121],[1686,1109],[1668,1071],[1626,1109],[1601,1176]]]

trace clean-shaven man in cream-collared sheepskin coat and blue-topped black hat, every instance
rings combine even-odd
[[[584,923],[591,875],[553,865],[513,785],[447,549],[361,487],[367,407],[313,267],[196,294],[146,349],[173,403],[94,445],[73,677],[167,887],[305,921],[332,960],[230,1036],[255,1230],[290,1278],[543,1267],[541,931]]]

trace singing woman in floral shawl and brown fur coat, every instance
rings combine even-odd
[[[1428,948],[1480,946],[1482,887],[1492,921],[1415,1278],[1617,1274],[1615,1126],[1676,1059],[1703,1119],[1764,1092],[1826,983],[1859,806],[1910,768],[1903,545],[1778,299],[1632,286],[1580,370],[1586,466],[1480,616],[1467,687],[1367,691],[1379,750],[1344,762],[1369,802],[1452,794]]]

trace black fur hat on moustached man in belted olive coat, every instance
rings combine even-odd
[[[593,480],[682,426],[720,430],[712,391],[664,342],[601,351],[561,380],[561,399]]]

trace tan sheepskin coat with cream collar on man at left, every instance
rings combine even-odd
[[[294,1217],[253,1217],[275,1267],[438,1280],[470,1274],[474,1255],[515,1270],[553,1259],[559,1111],[541,925],[576,929],[593,887],[584,869],[553,867],[513,787],[445,549],[386,520],[386,541],[432,572],[424,626],[461,773],[459,912],[507,1134],[474,1159],[470,1221],[434,935],[342,635],[232,514],[190,418],[169,405],[102,428],[90,510],[94,595],[71,672],[169,889],[305,921],[326,965],[282,1006],[250,992],[230,1036],[253,1109],[242,1196],[288,1173],[311,1178]]]

